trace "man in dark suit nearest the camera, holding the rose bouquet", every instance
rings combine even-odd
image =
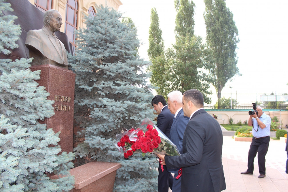
[[[200,91],[186,91],[182,102],[184,115],[190,117],[183,136],[183,154],[158,156],[163,165],[182,167],[181,191],[222,191],[226,184],[220,125],[204,110]]]

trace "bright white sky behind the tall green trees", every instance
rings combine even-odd
[[[175,42],[174,0],[120,0],[118,11],[124,17],[130,17],[137,27],[140,58],[149,61],[149,26],[151,8],[155,7],[159,17],[160,29],[165,49]],[[193,1],[194,34],[206,37],[203,18],[205,4],[203,0]],[[237,57],[241,76],[235,76],[227,82],[221,97],[237,99],[244,105],[260,100],[260,95],[276,93],[288,94],[288,1],[287,0],[226,0],[226,7],[233,13],[240,42],[237,44]],[[217,101],[215,88],[211,84],[210,95],[214,105]],[[278,101],[278,100],[277,100]]]

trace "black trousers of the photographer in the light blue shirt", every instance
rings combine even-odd
[[[248,169],[247,169],[248,172],[253,173],[254,158],[256,157],[256,154],[258,152],[259,173],[266,174],[265,155],[268,151],[269,142],[270,142],[270,136],[261,139],[255,139],[253,137],[248,153]]]

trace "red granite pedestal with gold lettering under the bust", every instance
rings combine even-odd
[[[50,93],[49,100],[55,101],[53,104],[55,114],[50,118],[45,118],[43,123],[47,124],[47,129],[52,128],[55,133],[61,131],[58,145],[61,146],[62,153],[73,152],[73,119],[74,119],[74,91],[75,74],[68,69],[54,65],[34,65],[31,71],[41,70],[40,80],[36,82],[39,86],[45,86]]]

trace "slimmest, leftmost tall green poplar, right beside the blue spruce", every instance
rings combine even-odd
[[[159,27],[159,17],[155,8],[151,9],[149,27],[149,49],[147,50],[151,65],[148,70],[151,71],[150,82],[152,85],[158,87],[157,94],[165,97],[166,80],[165,65],[166,58],[164,56],[164,41],[162,39],[162,31]]]

